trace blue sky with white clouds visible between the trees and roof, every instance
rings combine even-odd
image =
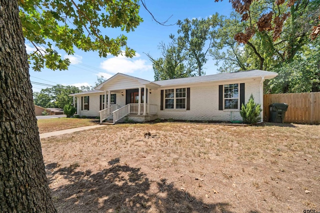
[[[205,18],[216,12],[220,15],[229,15],[232,11],[231,4],[228,0],[214,2],[214,0],[145,0],[147,8],[152,12],[154,17],[159,21],[165,21],[171,15],[167,24],[174,24],[178,19],[184,18]],[[109,78],[120,72],[146,80],[153,80],[152,63],[144,53],[149,53],[153,58],[161,56],[158,45],[161,41],[169,42],[169,34],[176,34],[178,27],[162,26],[152,20],[151,15],[141,5],[140,16],[143,22],[133,31],[126,34],[128,37],[127,44],[136,51],[133,58],[125,58],[124,56],[114,57],[108,55],[106,58],[100,58],[97,52],[83,52],[75,50],[75,54],[71,56],[59,52],[63,57],[70,59],[68,70],[52,71],[43,69],[41,72],[35,72],[30,68],[30,80],[49,85],[74,85],[74,86],[91,86],[94,85],[97,76]],[[119,30],[106,29],[107,35],[111,33],[119,33]],[[115,34],[117,35],[117,34]],[[29,43],[26,42],[27,51],[32,50]],[[212,59],[204,66],[206,75],[215,74],[216,68]],[[39,92],[46,86],[32,84],[33,91]]]

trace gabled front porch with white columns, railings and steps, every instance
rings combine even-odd
[[[113,77],[96,87],[104,91],[102,109],[99,111],[100,123],[111,118],[116,123],[125,116],[140,122],[156,118],[157,105],[150,103],[153,88],[149,81],[120,73]],[[112,94],[117,96],[116,104],[112,104]]]

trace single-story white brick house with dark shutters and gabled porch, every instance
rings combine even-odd
[[[162,81],[147,81],[117,73],[95,90],[71,94],[77,115],[134,121],[242,120],[239,110],[251,94],[263,109],[263,81],[275,72],[249,70]],[[261,112],[262,121],[262,112]]]

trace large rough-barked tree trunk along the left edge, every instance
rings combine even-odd
[[[0,212],[55,212],[17,0],[0,0]]]

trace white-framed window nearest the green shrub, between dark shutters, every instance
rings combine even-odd
[[[224,109],[239,108],[239,84],[225,84],[224,86]]]

